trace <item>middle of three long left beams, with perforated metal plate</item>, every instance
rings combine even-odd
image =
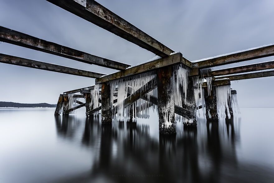
[[[72,60],[77,60],[87,64],[100,65],[103,67],[124,70],[130,65],[91,55],[83,51],[78,51],[66,46],[62,46],[53,42],[45,41],[18,31],[14,31],[0,26],[0,41],[23,46],[33,50],[38,50],[53,55],[62,56]]]

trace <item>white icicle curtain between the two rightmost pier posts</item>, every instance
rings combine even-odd
[[[230,119],[229,113],[229,102],[231,102],[231,90],[230,85],[217,86],[216,87],[216,98],[217,98],[217,110],[221,117],[225,117],[225,111],[227,111],[227,116]]]

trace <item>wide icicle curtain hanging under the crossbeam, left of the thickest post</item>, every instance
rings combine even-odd
[[[124,101],[128,96],[131,97],[131,95],[136,94],[137,90],[141,89],[144,91],[147,87],[149,87],[148,83],[150,81],[153,83],[156,82],[155,71],[110,81],[112,118],[117,121],[127,121],[130,119],[130,116],[133,116],[133,121],[136,117],[149,118],[149,108],[156,108],[155,105],[149,102],[149,97],[150,95],[155,96],[155,94],[157,96],[157,90],[154,89],[146,94],[148,101],[138,99],[130,105],[126,105]],[[113,92],[116,91],[116,88],[118,88],[117,103],[113,104]],[[130,113],[132,113],[132,115]]]

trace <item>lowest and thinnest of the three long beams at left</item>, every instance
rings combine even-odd
[[[36,60],[24,59],[21,57],[0,54],[0,62],[5,64],[19,65],[24,67],[30,67],[34,69],[48,70],[53,72],[60,72],[70,75],[78,75],[89,78],[100,78],[103,74],[95,73],[87,70],[74,69],[61,65],[49,64]]]

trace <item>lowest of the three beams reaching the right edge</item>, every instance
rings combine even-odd
[[[227,75],[224,77],[216,77],[216,79],[229,78],[231,81],[234,81],[234,80],[242,80],[242,79],[263,78],[263,77],[270,77],[270,76],[274,76],[274,70],[254,72],[254,73],[248,73],[248,74],[239,74],[239,75]]]

